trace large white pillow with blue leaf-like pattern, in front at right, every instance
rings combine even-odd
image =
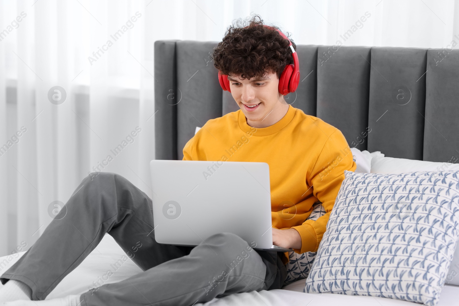
[[[437,305],[459,238],[459,171],[344,173],[303,292]]]

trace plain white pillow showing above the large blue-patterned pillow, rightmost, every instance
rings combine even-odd
[[[451,160],[452,161],[452,160]],[[459,164],[449,162],[417,161],[406,158],[373,157],[371,173],[404,173],[413,171],[457,171]],[[357,172],[357,171],[356,171]]]

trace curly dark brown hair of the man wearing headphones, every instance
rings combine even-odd
[[[263,77],[274,72],[280,78],[285,66],[293,64],[289,41],[275,30],[279,27],[265,27],[259,15],[254,15],[248,22],[248,25],[246,21],[241,24],[239,18],[233,26],[229,26],[223,40],[209,56],[213,66],[221,74],[241,75],[242,79]],[[290,41],[296,50],[297,45],[293,39]]]

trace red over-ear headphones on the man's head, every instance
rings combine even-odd
[[[267,25],[264,26],[271,30],[274,29]],[[297,52],[295,51],[295,49],[293,49],[293,45],[291,44],[290,39],[288,39],[288,37],[285,36],[284,33],[280,32],[279,29],[275,30],[279,32],[283,38],[287,39],[290,42],[289,47],[291,49],[293,56],[293,64],[287,64],[285,66],[284,71],[280,75],[279,79],[279,93],[282,95],[287,95],[288,93],[294,92],[298,88],[298,84],[300,83],[300,64],[298,61]],[[218,71],[218,82],[220,82],[220,86],[223,90],[228,90],[229,92],[231,92],[231,89],[229,88],[228,75],[221,74],[220,71]]]

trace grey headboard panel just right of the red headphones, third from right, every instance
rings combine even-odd
[[[319,46],[317,58],[317,117],[359,150],[367,149],[370,50]]]

